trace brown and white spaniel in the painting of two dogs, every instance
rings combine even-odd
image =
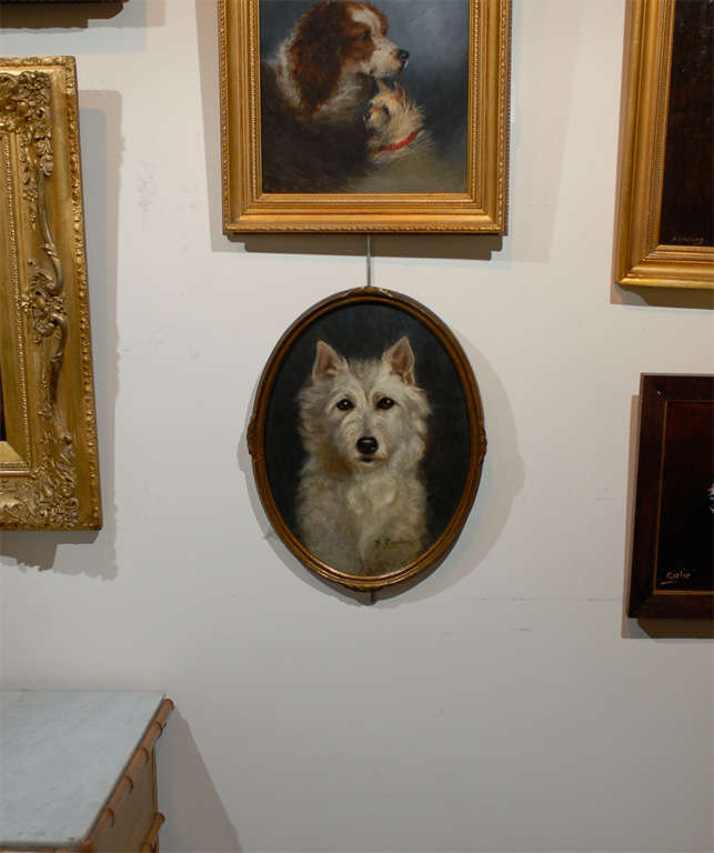
[[[366,168],[362,110],[375,81],[409,60],[388,29],[372,3],[323,0],[261,63],[265,192],[340,191]]]

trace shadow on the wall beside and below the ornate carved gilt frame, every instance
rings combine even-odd
[[[114,410],[119,392],[117,329],[117,233],[119,170],[121,164],[121,96],[112,91],[80,90],[82,183],[89,309],[103,528],[97,531],[4,531],[0,563],[20,568],[54,569],[63,574],[117,576],[117,506],[114,504]],[[61,545],[97,548],[72,550],[71,561],[56,566]],[[9,558],[9,559],[4,559]]]

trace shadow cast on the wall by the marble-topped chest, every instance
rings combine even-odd
[[[161,850],[168,853],[241,853],[189,724],[174,711],[157,743],[159,809],[167,816]],[[190,803],[190,807],[181,804]]]

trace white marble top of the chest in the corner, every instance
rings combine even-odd
[[[82,841],[162,699],[153,691],[0,691],[0,844]]]

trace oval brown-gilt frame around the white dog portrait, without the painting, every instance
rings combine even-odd
[[[300,335],[318,318],[334,309],[363,303],[391,305],[404,311],[434,334],[455,368],[463,391],[470,424],[469,470],[465,476],[465,484],[456,510],[451,515],[445,530],[415,561],[395,572],[381,575],[348,574],[323,563],[314,556],[299,541],[281,515],[273,496],[273,490],[271,489],[265,460],[268,409],[275,379],[285,355]],[[253,473],[263,509],[280,539],[285,543],[290,551],[292,551],[292,553],[308,566],[308,569],[321,578],[353,590],[374,591],[384,586],[392,586],[413,579],[422,572],[425,572],[428,569],[433,569],[439,565],[453,546],[464,525],[466,516],[469,515],[479,488],[483,459],[486,451],[486,434],[479,385],[469,363],[469,359],[461,345],[449,328],[428,308],[409,297],[389,290],[368,287],[345,291],[330,297],[309,309],[295,320],[275,345],[268,364],[263,370],[258,387],[253,413],[248,429],[248,449],[252,456]]]

